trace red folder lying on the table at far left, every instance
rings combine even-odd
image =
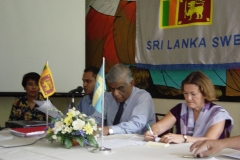
[[[28,127],[28,128],[13,128],[10,132],[18,137],[31,137],[45,134],[46,126]]]

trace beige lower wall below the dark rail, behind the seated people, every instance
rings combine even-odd
[[[4,126],[5,121],[8,120],[8,116],[11,110],[12,102],[15,100],[14,97],[0,97],[0,125]],[[50,97],[53,104],[65,113],[68,104],[71,102],[71,98],[58,98]],[[75,104],[80,100],[80,98],[75,98]],[[172,99],[153,99],[155,105],[155,111],[158,113],[167,113],[173,106],[183,100],[172,100]],[[216,102],[217,104],[223,106],[229,114],[234,119],[234,127],[231,136],[240,134],[240,106],[239,103],[233,102]]]

